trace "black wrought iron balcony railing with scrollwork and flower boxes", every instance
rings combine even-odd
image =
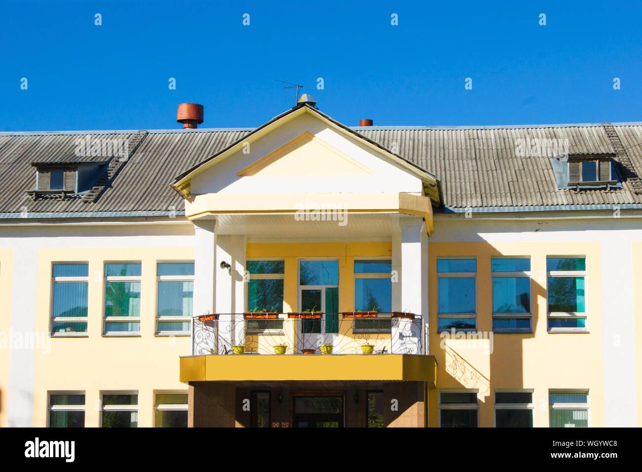
[[[428,354],[410,313],[221,313],[193,319],[192,354]]]

